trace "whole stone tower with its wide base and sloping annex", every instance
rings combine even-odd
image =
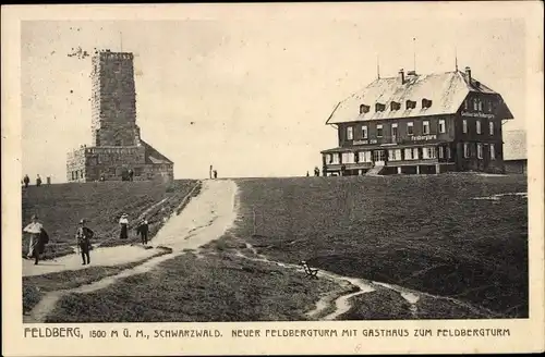
[[[172,181],[173,162],[141,137],[136,125],[133,54],[99,51],[93,57],[93,146],[68,153],[66,180]]]

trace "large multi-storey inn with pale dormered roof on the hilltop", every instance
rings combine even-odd
[[[322,151],[324,175],[502,173],[501,96],[471,70],[419,75],[401,70],[339,102],[326,124],[338,147]]]

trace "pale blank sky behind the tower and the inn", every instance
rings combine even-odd
[[[65,182],[66,152],[90,145],[90,58],[81,46],[135,54],[142,138],[177,178],[304,175],[337,146],[335,106],[400,69],[471,66],[525,130],[525,24],[517,19],[287,15],[169,21],[26,21],[21,27],[23,174]],[[378,10],[376,10],[378,9]],[[413,38],[415,41],[413,42]],[[543,119],[538,119],[543,120]],[[192,124],[193,123],[193,124]]]

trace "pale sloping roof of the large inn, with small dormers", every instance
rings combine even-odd
[[[423,75],[408,73],[404,75],[404,84],[400,83],[398,76],[379,78],[339,102],[326,124],[453,114],[471,91],[501,97],[477,79],[469,82],[465,73],[460,71]],[[432,100],[432,106],[422,108],[422,99]],[[416,108],[407,109],[407,100],[415,101]],[[400,103],[401,109],[390,110],[392,101]],[[376,103],[385,104],[385,110],[376,111]],[[361,104],[370,106],[370,111],[359,114]],[[505,103],[504,107],[504,119],[512,119]]]

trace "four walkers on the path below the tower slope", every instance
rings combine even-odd
[[[126,213],[123,213],[119,220],[119,225],[121,227],[120,238],[129,238],[129,218]],[[49,235],[47,234],[44,225],[38,221],[38,216],[34,214],[32,217],[32,222],[23,229],[24,233],[29,235],[31,242],[28,244],[27,259],[34,259],[34,264],[37,266],[40,255],[44,254],[46,245],[49,243]],[[142,220],[137,227],[136,234],[142,238],[142,244],[147,245],[149,233],[149,223],[147,220]],[[80,225],[75,232],[75,241],[78,253],[82,255],[83,264],[90,263],[90,249],[92,239],[95,236],[95,232],[87,226],[87,220],[80,220]]]

